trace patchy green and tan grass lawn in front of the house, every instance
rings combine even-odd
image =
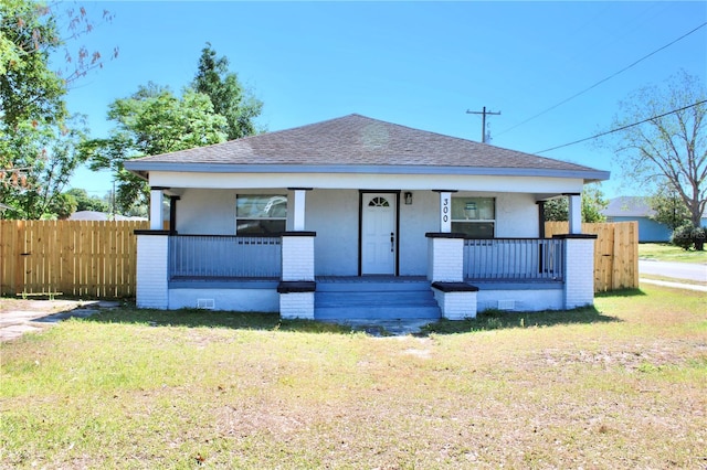
[[[129,308],[0,346],[2,468],[707,466],[707,299],[372,338]]]

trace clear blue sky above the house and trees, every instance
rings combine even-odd
[[[119,56],[77,82],[74,113],[107,137],[108,105],[152,81],[180,90],[210,42],[264,102],[257,124],[279,130],[351,113],[536,153],[608,130],[618,102],[680,68],[707,79],[707,26],[581,96],[707,21],[707,2],[85,2],[114,14],[82,39]],[[608,196],[629,194],[610,151],[591,142],[541,153],[612,171]],[[76,173],[93,195],[108,173]]]

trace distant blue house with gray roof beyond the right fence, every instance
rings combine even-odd
[[[602,214],[606,222],[637,222],[640,243],[669,242],[673,235],[668,226],[651,218],[655,211],[651,209],[651,199],[646,196],[614,197]],[[701,225],[707,225],[707,217],[703,217]]]

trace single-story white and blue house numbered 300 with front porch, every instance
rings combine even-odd
[[[581,192],[605,171],[360,115],[125,168],[151,190],[139,307],[350,320],[593,302]],[[552,197],[570,235],[544,239]]]

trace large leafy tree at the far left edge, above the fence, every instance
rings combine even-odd
[[[67,21],[62,29],[59,10]],[[63,2],[0,2],[0,201],[12,207],[4,216],[39,218],[65,207],[54,199],[83,161],[76,147],[85,130],[70,118],[64,96],[103,63],[85,46],[73,53],[67,41],[93,26],[85,9]],[[66,65],[53,70],[50,57],[62,52]]]

